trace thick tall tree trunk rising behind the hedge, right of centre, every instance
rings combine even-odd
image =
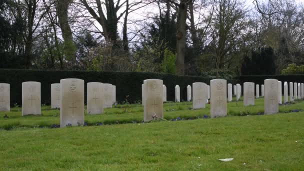
[[[180,0],[178,5],[178,14],[176,21],[176,74],[184,74],[184,54],[186,45],[186,17],[187,4],[186,0]]]

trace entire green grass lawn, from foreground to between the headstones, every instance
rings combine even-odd
[[[118,105],[105,114],[85,115],[90,124],[37,128],[59,124],[59,110],[42,107],[42,116],[21,116],[20,108],[0,112],[0,170],[303,170],[304,101],[280,105],[278,114],[255,106],[228,103],[228,116],[170,121],[209,115],[189,102],[165,103],[167,121],[140,123],[139,104]],[[7,114],[9,118],[3,118]],[[239,116],[248,115],[248,116]],[[6,127],[5,127],[6,126]],[[222,162],[218,158],[234,158]]]

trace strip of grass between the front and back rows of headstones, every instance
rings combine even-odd
[[[114,107],[114,106],[113,106]],[[201,118],[210,115],[210,104],[206,108],[192,109],[191,102],[164,103],[164,118],[167,120],[180,117],[182,119]],[[51,127],[60,124],[60,110],[51,109],[50,106],[41,107],[41,115],[21,116],[21,108],[13,107],[10,112],[0,112],[0,128],[13,129],[17,127]],[[292,104],[280,105],[279,112],[290,112],[293,109],[304,109],[304,100]],[[227,103],[228,115],[255,115],[264,111],[263,98],[255,99],[255,105],[243,106],[243,101]],[[8,118],[4,118],[4,115]],[[119,104],[114,108],[105,108],[103,114],[90,115],[85,110],[85,123],[96,124],[121,124],[138,123],[143,120],[143,106],[141,104]]]

